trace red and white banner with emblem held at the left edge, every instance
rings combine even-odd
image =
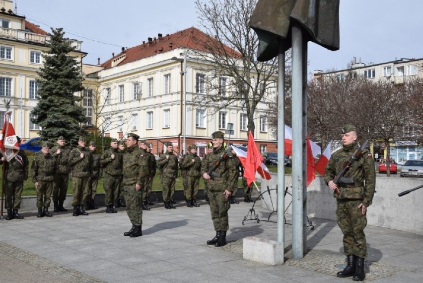
[[[10,111],[4,114],[4,124],[0,134],[0,152],[7,162],[12,160],[19,152],[19,143],[10,122]]]

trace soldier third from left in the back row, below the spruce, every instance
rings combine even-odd
[[[53,147],[50,150],[50,154],[56,158],[57,162],[57,171],[54,177],[54,186],[53,186],[53,204],[54,212],[59,211],[68,211],[63,207],[63,203],[66,199],[66,193],[68,191],[69,183],[69,154],[70,149],[65,146],[66,141],[63,136],[60,136],[57,139],[57,146]]]

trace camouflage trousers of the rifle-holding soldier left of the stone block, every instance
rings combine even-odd
[[[214,230],[227,231],[229,229],[229,201],[225,198],[223,191],[209,191],[209,198]]]

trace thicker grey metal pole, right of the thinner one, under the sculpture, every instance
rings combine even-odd
[[[297,24],[292,26],[292,255],[303,257],[303,147],[302,122],[302,32]]]

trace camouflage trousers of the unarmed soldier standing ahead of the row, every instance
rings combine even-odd
[[[134,185],[124,185],[126,200],[126,213],[132,224],[140,226],[142,224],[142,193],[143,187],[137,191]]]

